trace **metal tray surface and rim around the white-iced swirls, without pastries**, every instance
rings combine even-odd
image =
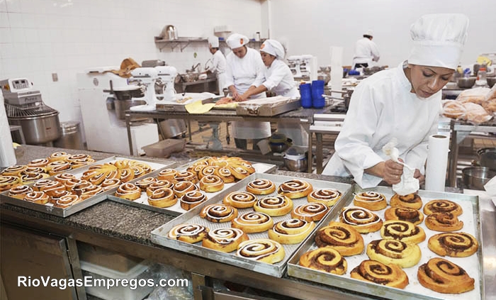
[[[288,177],[288,176],[282,176],[282,175],[276,175],[276,174],[260,174],[260,173],[254,173],[251,174],[249,177],[242,179],[240,182],[237,182],[234,186],[230,187],[229,189],[222,191],[220,194],[215,196],[214,199],[211,199],[210,204],[215,204],[215,203],[221,203],[222,199],[224,199],[224,196],[229,194],[232,191],[244,191],[247,184],[249,182],[252,182],[254,179],[269,179],[274,184],[276,184],[276,187],[281,185],[283,182],[286,182],[288,180],[294,179],[294,177]],[[344,183],[338,183],[338,182],[325,182],[322,180],[314,180],[314,179],[303,179],[306,182],[312,184],[312,187],[314,189],[321,189],[321,188],[333,188],[333,189],[338,189],[341,191],[343,194],[346,193],[346,191],[349,191],[351,189],[351,184],[344,184]],[[277,190],[277,189],[276,189]],[[276,192],[274,192],[271,195],[275,195]],[[261,195],[257,196],[258,199],[263,198],[264,196],[269,196],[269,195]],[[339,201],[337,201],[339,203]],[[307,203],[306,197],[300,198],[300,199],[293,199],[293,207],[299,206],[301,204]],[[332,211],[334,206],[331,206],[331,209],[329,210],[328,214]],[[239,257],[235,253],[236,252],[231,252],[231,253],[225,253],[225,252],[220,252],[216,250],[211,250],[209,248],[204,248],[201,245],[201,242],[196,243],[196,244],[189,244],[189,243],[184,243],[179,240],[174,240],[171,238],[168,238],[167,234],[169,233],[169,230],[171,228],[174,228],[174,226],[179,225],[181,223],[197,223],[201,224],[203,226],[206,226],[210,229],[213,228],[225,228],[225,227],[230,227],[230,222],[226,223],[213,223],[210,221],[206,221],[205,219],[201,218],[198,216],[198,213],[200,213],[202,207],[196,206],[194,209],[191,211],[188,211],[187,213],[184,213],[182,216],[179,216],[175,218],[174,220],[170,221],[169,223],[166,223],[159,228],[156,228],[152,230],[152,235],[151,239],[154,243],[157,243],[159,245],[163,245],[169,248],[173,248],[176,250],[180,250],[186,253],[191,253],[193,255],[198,255],[201,257],[206,257],[211,260],[215,260],[218,262],[223,262],[228,265],[234,265],[237,267],[242,267],[243,269],[247,270],[252,270],[254,272],[259,272],[263,274],[268,274],[274,277],[282,277],[284,272],[286,271],[286,264],[293,254],[295,250],[300,247],[302,243],[299,244],[294,244],[294,245],[283,245],[284,251],[286,252],[286,257],[281,262],[277,262],[274,265],[267,264],[265,262],[258,262],[256,260],[249,260],[244,257]],[[238,209],[238,216],[247,213],[249,211],[253,211],[252,208],[249,209]],[[291,213],[287,213],[285,216],[275,216],[272,217],[274,219],[274,223],[277,223],[279,221],[283,220],[288,220],[291,218]],[[317,223],[318,224],[318,223]],[[267,231],[264,231],[263,233],[247,233],[249,236],[249,239],[255,239],[255,238],[269,238],[269,235]],[[312,236],[312,234],[310,234]]]

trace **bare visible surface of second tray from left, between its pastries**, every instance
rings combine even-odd
[[[203,160],[205,158],[207,158],[207,157],[203,157],[199,160]],[[197,161],[198,160],[196,160],[194,162],[189,162],[188,164],[185,164],[185,165],[174,167],[174,169],[178,170],[178,171],[186,170],[189,166],[193,165]],[[259,173],[272,172],[272,171],[276,170],[276,167],[277,167],[276,165],[269,165],[269,164],[264,164],[261,162],[252,162],[252,165],[255,168],[255,171],[259,172]],[[158,174],[159,174],[159,171],[152,172],[152,173],[147,174],[147,177],[157,177]],[[138,180],[140,180],[140,179],[136,179],[136,180],[133,179],[130,182],[135,183]],[[234,184],[236,184],[236,182],[224,184],[224,189],[222,189],[222,190],[228,189],[228,188],[232,187]],[[200,187],[200,183],[197,183],[196,185],[198,186],[198,188]],[[203,191],[203,193],[207,196],[207,202],[210,202],[209,200],[212,199],[213,196],[219,194],[220,192],[221,191],[216,191],[215,193],[207,193],[207,192]],[[164,207],[164,208],[152,206],[152,205],[148,204],[148,196],[147,196],[146,191],[142,191],[140,198],[138,198],[134,201],[120,198],[118,196],[115,196],[114,194],[109,194],[108,199],[115,201],[115,202],[122,203],[122,204],[128,204],[130,206],[140,207],[141,209],[148,209],[150,211],[157,211],[159,213],[169,213],[172,216],[179,216],[183,213],[186,213],[186,210],[181,208],[181,202],[180,201],[177,201],[176,204],[174,204],[173,206]],[[204,203],[205,202],[203,202],[203,204]]]

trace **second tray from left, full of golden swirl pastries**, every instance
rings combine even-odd
[[[275,168],[276,165],[248,162],[240,157],[202,157],[123,184],[108,199],[179,216],[250,174]]]

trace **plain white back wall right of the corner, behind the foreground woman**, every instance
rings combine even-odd
[[[286,42],[288,55],[317,55],[330,64],[329,47],[343,47],[343,65],[351,65],[354,44],[368,28],[374,31],[381,60],[398,65],[410,55],[410,24],[425,13],[466,13],[470,18],[462,64],[496,52],[496,1],[487,0],[268,0],[271,38]]]

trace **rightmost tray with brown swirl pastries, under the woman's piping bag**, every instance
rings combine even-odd
[[[288,262],[288,275],[384,299],[481,299],[477,196],[354,185]]]

